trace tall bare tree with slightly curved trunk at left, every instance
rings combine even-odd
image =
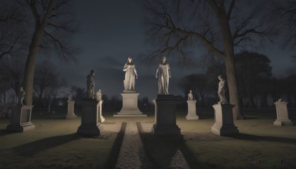
[[[78,49],[71,43],[72,35],[77,31],[73,15],[69,11],[70,0],[17,0],[25,13],[31,13],[29,25],[33,30],[29,45],[25,72],[25,101],[32,104],[35,62],[38,52],[53,51],[65,61],[75,61]],[[41,50],[40,50],[41,49]]]

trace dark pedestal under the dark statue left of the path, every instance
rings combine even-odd
[[[83,100],[81,125],[77,129],[77,134],[80,135],[101,135],[103,126],[99,121],[97,100]]]

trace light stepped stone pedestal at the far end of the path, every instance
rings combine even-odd
[[[121,93],[122,108],[120,112],[113,114],[113,117],[147,117],[138,108],[139,93]]]

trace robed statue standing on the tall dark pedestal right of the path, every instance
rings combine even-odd
[[[157,73],[159,72],[158,76]],[[169,78],[171,78],[170,66],[166,62],[166,57],[162,57],[162,62],[159,64],[155,77],[158,77],[158,95],[168,95]]]

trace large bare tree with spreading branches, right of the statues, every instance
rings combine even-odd
[[[188,48],[203,46],[225,63],[233,118],[243,119],[236,73],[234,47],[257,47],[271,35],[260,20],[263,1],[237,0],[146,0],[148,40],[159,49],[146,57],[177,54],[181,66],[193,63]],[[248,8],[246,8],[248,6]],[[263,19],[263,18],[262,18]],[[158,43],[157,43],[158,42]]]

